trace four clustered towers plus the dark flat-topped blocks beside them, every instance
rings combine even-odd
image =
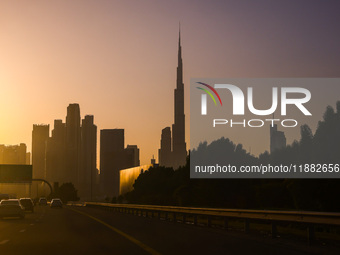
[[[119,170],[139,165],[137,145],[124,148],[124,129],[100,132],[100,164],[97,169],[97,126],[94,117],[80,116],[78,104],[67,107],[66,122],[33,125],[33,178],[45,179],[55,187],[71,182],[82,200],[119,195]],[[100,178],[101,177],[101,178]]]

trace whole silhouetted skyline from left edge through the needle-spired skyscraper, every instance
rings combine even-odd
[[[159,163],[177,169],[186,164],[184,83],[182,49],[179,35],[177,86],[174,93],[174,124],[162,130]],[[93,115],[81,119],[78,104],[67,107],[66,121],[49,125],[33,125],[33,178],[44,179],[55,188],[71,182],[82,200],[118,197],[131,190],[141,173],[156,164],[140,166],[137,145],[125,147],[124,129],[100,130],[100,172],[97,169],[97,126]],[[29,164],[26,145],[0,145],[0,164]],[[123,176],[122,180],[120,180]],[[38,191],[37,191],[38,192]]]

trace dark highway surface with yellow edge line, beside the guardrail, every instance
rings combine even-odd
[[[268,236],[138,217],[81,206],[36,206],[0,220],[0,254],[339,254]]]

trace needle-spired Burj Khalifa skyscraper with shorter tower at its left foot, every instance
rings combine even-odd
[[[182,47],[181,47],[181,33],[179,33],[178,39],[178,66],[177,66],[177,85],[175,89],[175,109],[174,109],[174,124],[172,125],[172,151],[171,154],[167,154],[167,141],[164,141],[166,147],[162,147],[160,153],[162,154],[160,159],[160,165],[171,166],[177,169],[180,166],[184,166],[186,163],[187,150],[185,143],[185,115],[184,115],[184,83],[183,83],[183,61],[182,61]],[[163,129],[164,130],[164,129]],[[166,135],[169,131],[166,130]],[[164,134],[165,135],[165,134]],[[163,131],[162,131],[163,136]],[[171,158],[171,164],[166,165],[165,158]],[[163,161],[163,162],[162,162]],[[165,160],[166,162],[166,160]]]

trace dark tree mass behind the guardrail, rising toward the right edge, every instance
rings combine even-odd
[[[300,131],[298,141],[271,154],[265,151],[258,158],[224,137],[201,143],[190,155],[203,165],[221,159],[236,166],[340,163],[340,101],[336,112],[327,107],[315,134],[308,125]],[[340,211],[339,194],[339,179],[190,179],[188,160],[176,171],[165,167],[145,171],[125,199],[159,205]]]

